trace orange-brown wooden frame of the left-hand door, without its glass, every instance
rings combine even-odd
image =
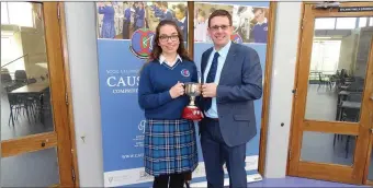
[[[44,36],[48,60],[48,78],[52,99],[54,131],[1,141],[1,157],[56,148],[59,184],[52,187],[79,187],[77,178],[77,152],[75,126],[68,74],[65,17],[60,2],[41,3]]]

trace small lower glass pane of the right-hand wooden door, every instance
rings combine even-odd
[[[355,136],[304,131],[301,161],[351,166],[357,139]]]

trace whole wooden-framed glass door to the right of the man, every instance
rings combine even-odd
[[[373,11],[353,11],[359,7],[372,3],[304,3],[289,175],[363,181],[373,118]]]

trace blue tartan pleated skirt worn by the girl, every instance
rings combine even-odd
[[[145,172],[152,176],[193,172],[197,149],[193,121],[147,119],[144,138]]]

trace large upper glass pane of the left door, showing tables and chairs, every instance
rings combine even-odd
[[[42,4],[1,3],[1,140],[53,131]]]

